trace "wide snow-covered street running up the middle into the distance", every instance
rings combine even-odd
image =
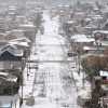
[[[35,52],[38,53],[38,59],[66,59],[67,49],[64,45],[66,41],[58,35],[58,17],[51,19],[49,13],[44,12],[43,19],[44,35],[39,33],[36,37]],[[63,81],[63,76],[68,76],[68,64],[65,63],[39,63],[33,92],[36,104],[32,107],[24,105],[23,108],[79,108],[76,103],[77,92],[73,83],[71,82],[71,85],[66,87]],[[41,91],[44,97],[39,95]]]

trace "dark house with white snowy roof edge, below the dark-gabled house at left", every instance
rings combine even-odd
[[[13,95],[18,93],[18,77],[10,72],[0,71],[0,95]]]

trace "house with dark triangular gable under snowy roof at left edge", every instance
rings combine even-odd
[[[23,55],[24,51],[14,45],[6,44],[0,48],[0,69],[21,69]]]

